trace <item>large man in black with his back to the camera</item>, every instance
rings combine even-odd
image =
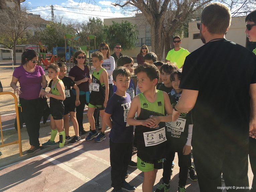
[[[249,192],[249,130],[256,129],[256,56],[225,38],[231,11],[221,3],[201,14],[205,45],[184,62],[172,120],[193,109],[192,147],[201,192]],[[237,189],[243,186],[244,189]]]

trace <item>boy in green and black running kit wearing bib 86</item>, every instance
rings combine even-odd
[[[132,100],[127,123],[135,125],[137,167],[144,172],[142,191],[152,191],[158,169],[165,157],[165,123],[171,121],[172,107],[168,94],[156,89],[159,70],[145,63],[134,70],[141,91]],[[165,111],[167,116],[165,116]],[[137,119],[134,119],[137,113]]]

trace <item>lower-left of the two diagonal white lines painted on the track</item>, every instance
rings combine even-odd
[[[89,182],[90,184],[93,184],[93,185],[99,185],[97,182],[93,181],[92,179],[84,176],[83,174],[77,172],[76,170],[70,168],[69,166],[65,165],[64,163],[61,163],[57,160],[55,160],[54,158],[48,156],[48,155],[40,155],[40,157],[48,160],[49,162],[53,163],[54,165],[57,165],[58,167],[60,167],[61,169],[69,172],[70,174],[74,175],[75,177],[81,179],[82,181],[84,182]]]

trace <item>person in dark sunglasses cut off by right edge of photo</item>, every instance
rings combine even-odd
[[[249,13],[246,18],[246,30],[245,33],[249,41],[256,42],[256,10]],[[256,54],[256,48],[253,50]],[[252,180],[252,189],[250,192],[256,192],[256,129],[251,130],[249,137],[249,158],[252,168],[252,173],[254,175]]]

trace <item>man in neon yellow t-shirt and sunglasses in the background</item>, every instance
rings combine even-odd
[[[187,55],[189,55],[188,50],[180,47],[181,39],[179,36],[173,37],[174,49],[171,49],[167,56],[166,62],[175,62],[178,68],[182,68],[183,63]]]

